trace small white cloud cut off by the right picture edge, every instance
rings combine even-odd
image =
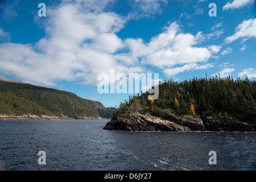
[[[244,20],[236,27],[236,33],[225,39],[226,43],[232,43],[239,38],[256,38],[256,18]]]

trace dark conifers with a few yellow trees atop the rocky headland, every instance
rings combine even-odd
[[[159,97],[148,100],[148,93],[130,97],[121,102],[114,112],[117,117],[134,107],[140,107],[151,114],[161,116],[162,110],[178,115],[218,115],[234,117],[244,121],[255,119],[256,82],[233,77],[193,78],[175,82],[159,82]]]

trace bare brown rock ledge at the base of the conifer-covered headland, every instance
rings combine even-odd
[[[255,122],[237,119],[177,116],[164,113],[163,118],[148,113],[126,113],[106,123],[104,130],[122,131],[256,131]]]

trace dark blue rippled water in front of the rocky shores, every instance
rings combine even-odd
[[[256,133],[102,130],[108,121],[0,121],[0,164],[6,170],[256,169]],[[41,150],[46,165],[38,164]],[[216,165],[209,151],[216,151]]]

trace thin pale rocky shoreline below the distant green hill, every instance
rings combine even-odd
[[[38,116],[38,115],[31,115],[31,114],[23,114],[23,115],[19,115],[19,116],[0,114],[0,120],[29,120],[29,119],[59,120],[59,119],[102,119],[102,118],[100,118],[100,117],[99,118],[81,117],[81,116],[69,118],[65,115],[63,115],[61,117],[57,117],[57,116],[49,116],[49,115]]]

